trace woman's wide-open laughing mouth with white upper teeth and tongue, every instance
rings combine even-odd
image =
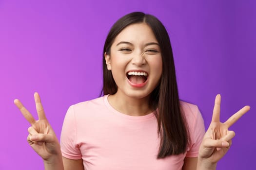
[[[144,85],[148,79],[148,73],[144,71],[129,71],[126,76],[132,85]]]

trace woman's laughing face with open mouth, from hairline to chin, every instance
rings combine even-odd
[[[158,41],[145,23],[132,24],[115,38],[110,54],[105,54],[107,68],[118,86],[117,93],[141,99],[158,85],[162,58]]]

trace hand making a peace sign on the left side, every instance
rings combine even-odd
[[[52,157],[61,156],[59,141],[45,117],[39,94],[35,93],[34,97],[39,117],[38,120],[33,118],[18,99],[15,99],[14,103],[20,109],[24,118],[31,124],[28,128],[28,143],[44,161],[50,161]]]

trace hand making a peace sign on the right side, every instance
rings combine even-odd
[[[224,123],[220,122],[220,95],[218,94],[215,99],[212,122],[199,148],[198,160],[207,162],[208,165],[216,166],[218,160],[228,152],[232,144],[231,139],[235,136],[235,132],[230,131],[228,128],[249,110],[250,106],[244,106],[227,121]]]

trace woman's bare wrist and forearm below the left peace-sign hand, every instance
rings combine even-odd
[[[44,160],[44,170],[64,170],[61,153],[51,157],[49,160]]]

